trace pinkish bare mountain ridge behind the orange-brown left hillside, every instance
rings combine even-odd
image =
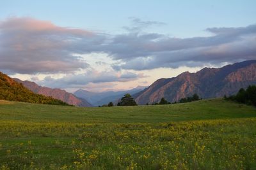
[[[86,99],[81,99],[74,94],[68,93],[65,90],[61,89],[51,89],[49,87],[42,87],[40,85],[37,85],[33,81],[22,81],[18,78],[13,78],[13,80],[22,83],[24,87],[28,88],[32,92],[35,92],[36,94],[42,94],[44,96],[51,96],[55,99],[60,99],[61,101],[64,101],[65,103],[72,104],[79,107],[91,107],[92,104],[88,103]]]

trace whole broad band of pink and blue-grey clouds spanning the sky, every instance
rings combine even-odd
[[[70,74],[91,67],[86,59],[79,57],[90,53],[105,53],[113,60],[109,65],[116,71],[198,67],[256,57],[256,25],[207,28],[211,36],[194,38],[143,32],[152,25],[164,23],[132,18],[127,32],[111,35],[59,27],[34,18],[8,18],[0,22],[0,39],[4,39],[0,41],[0,67],[13,73]],[[104,62],[97,64],[100,66]],[[86,77],[70,76],[66,81],[97,83],[116,80],[113,73],[100,74],[102,76],[94,73],[93,77],[87,74]],[[125,77],[118,77],[118,81],[125,81]]]

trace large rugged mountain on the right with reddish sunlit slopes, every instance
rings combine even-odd
[[[175,78],[161,78],[147,89],[134,94],[136,103],[156,103],[162,97],[170,102],[198,94],[203,98],[236,94],[241,88],[256,84],[256,60],[247,60],[221,68],[184,72]]]

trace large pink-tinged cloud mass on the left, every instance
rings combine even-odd
[[[88,64],[72,53],[91,51],[102,36],[91,31],[58,27],[34,18],[0,22],[0,67],[13,73],[72,72]]]

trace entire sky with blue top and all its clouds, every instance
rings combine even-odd
[[[256,59],[256,1],[1,1],[0,71],[93,92]]]

